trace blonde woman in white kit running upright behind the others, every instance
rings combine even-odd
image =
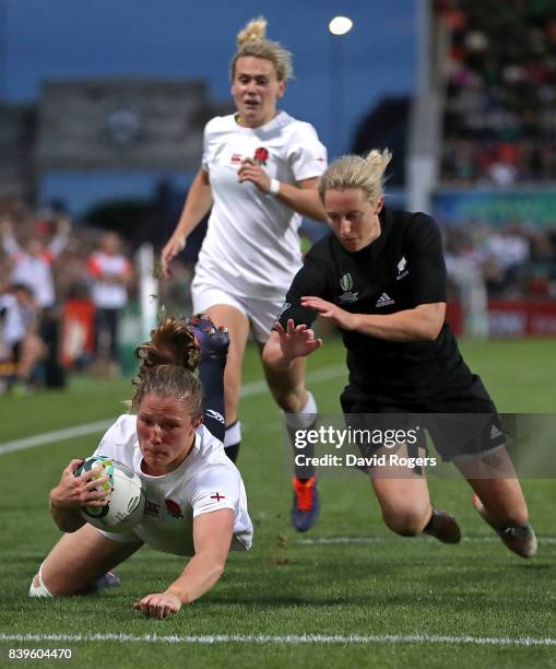
[[[249,332],[262,351],[301,266],[301,216],[326,221],[317,193],[327,151],[309,124],[276,104],[292,77],[292,55],[265,37],[267,22],[251,21],[238,35],[232,60],[232,94],[237,113],[213,118],[204,130],[202,166],[178,225],[162,251],[163,274],[212,207],[191,286],[193,310],[226,327],[230,348],[225,371],[228,457],[237,457],[237,404],[241,362]],[[291,430],[315,420],[315,399],[305,388],[305,363],[288,369],[264,367],[274,399]],[[296,470],[292,520],[304,531],[318,516],[315,471]]]

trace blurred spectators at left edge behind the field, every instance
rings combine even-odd
[[[113,231],[50,211],[0,213],[0,391],[63,387],[68,366],[119,374],[133,267]]]

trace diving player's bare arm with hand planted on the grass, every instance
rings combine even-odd
[[[133,605],[152,618],[177,613],[182,605],[199,599],[224,573],[234,531],[234,510],[223,508],[201,514],[193,520],[196,554],[179,578],[164,592],[146,595]]]

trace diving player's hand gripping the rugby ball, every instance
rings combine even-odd
[[[76,477],[78,467],[84,460],[72,460],[62,471],[58,485],[50,492],[50,503],[57,508],[79,508],[81,506],[106,506],[110,496],[110,489],[97,490],[98,486],[109,482],[104,467],[98,465]],[[98,476],[100,474],[100,476]]]

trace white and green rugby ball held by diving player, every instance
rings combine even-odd
[[[143,517],[146,498],[143,482],[131,469],[104,456],[87,458],[74,474],[79,477],[98,465],[104,467],[104,473],[108,474],[109,481],[100,484],[97,490],[114,490],[109,492],[108,504],[82,506],[81,515],[87,523],[106,532],[127,532]],[[96,474],[96,478],[100,476],[103,472]]]

